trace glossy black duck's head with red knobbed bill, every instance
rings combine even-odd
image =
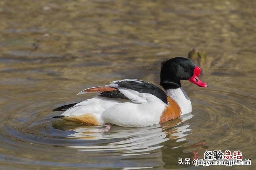
[[[180,80],[189,80],[200,87],[208,87],[206,83],[199,80],[200,73],[200,68],[190,59],[175,57],[162,64],[160,85],[166,90],[180,88]]]

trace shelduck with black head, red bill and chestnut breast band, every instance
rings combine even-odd
[[[160,86],[164,90],[143,80],[116,80],[105,86],[82,90],[77,95],[94,93],[96,96],[54,109],[64,112],[53,118],[88,126],[146,127],[162,124],[192,112],[181,80],[208,87],[198,78],[200,73],[200,68],[190,59],[174,57],[161,66]]]

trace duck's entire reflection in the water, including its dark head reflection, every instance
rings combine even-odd
[[[193,145],[187,145],[187,135],[191,134],[190,125],[186,123],[193,115],[187,114],[178,119],[168,121],[162,125],[150,127],[88,127],[64,124],[53,125],[56,129],[70,131],[66,139],[73,139],[66,147],[84,152],[104,153],[106,156],[119,155],[120,159],[132,159],[132,167],[148,167],[147,162],[142,161],[141,156],[154,158],[154,167],[163,167],[165,163],[178,164],[178,158],[198,158],[198,150],[206,149],[204,141],[197,141]],[[63,123],[63,122],[62,122]],[[75,143],[75,140],[84,140]],[[91,142],[89,142],[91,141]],[[128,157],[127,157],[128,156]],[[130,160],[131,161],[131,160]],[[139,162],[139,163],[138,163]],[[143,163],[144,162],[144,163]],[[151,167],[151,166],[150,166]]]

